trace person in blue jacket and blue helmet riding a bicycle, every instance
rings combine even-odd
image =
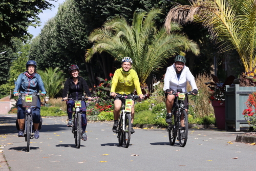
[[[41,95],[46,94],[44,82],[42,82],[41,76],[36,73],[36,62],[34,60],[29,60],[26,63],[27,71],[19,74],[18,79],[16,81],[16,87],[13,91],[14,96],[18,96],[19,93],[24,94],[34,94],[39,93],[41,91]],[[33,126],[34,126],[34,138],[39,138],[38,126],[40,122],[40,98],[38,97],[36,108],[32,108],[32,117],[33,117]],[[25,114],[26,108],[22,106],[22,98],[19,97],[17,101],[18,108],[18,125],[19,125],[19,133],[18,137],[24,137],[24,124],[25,124]]]

